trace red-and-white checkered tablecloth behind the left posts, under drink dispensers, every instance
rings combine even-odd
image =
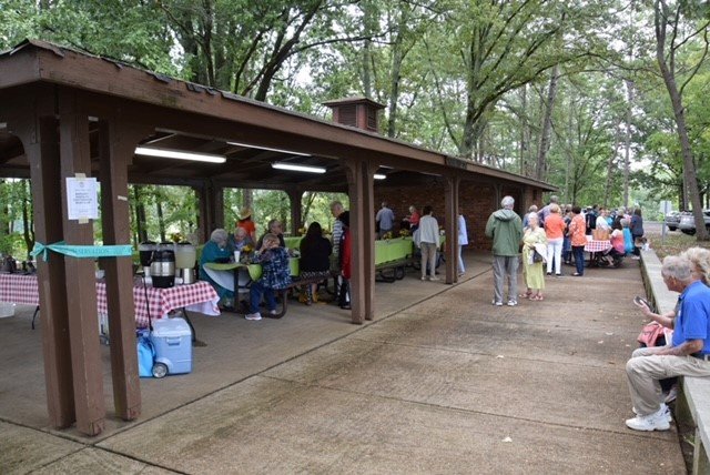
[[[210,310],[219,314],[216,303],[219,296],[212,285],[196,282],[190,285],[175,285],[170,289],[133,286],[133,302],[135,311],[135,326],[148,326],[148,307],[145,293],[150,303],[152,319],[162,319],[170,312],[186,306],[207,303]],[[40,295],[37,286],[37,275],[0,274],[0,302],[11,302],[26,305],[39,305]],[[106,305],[106,284],[97,282],[97,307],[100,314],[109,312]],[[214,309],[212,309],[214,307]]]

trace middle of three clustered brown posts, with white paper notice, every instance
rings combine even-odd
[[[91,174],[89,119],[79,110],[75,94],[61,90],[59,113],[64,241],[72,245],[93,245],[91,221],[80,223],[78,220],[69,220],[67,204],[67,178],[74,178],[77,173],[84,173],[87,176]],[[64,271],[67,295],[71,295],[67,310],[77,428],[87,435],[98,435],[103,431],[105,407],[94,263],[87,259],[65,257]]]

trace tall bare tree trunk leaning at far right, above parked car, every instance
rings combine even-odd
[[[683,156],[683,179],[687,186],[687,192],[692,203],[692,214],[696,221],[696,236],[698,241],[708,241],[708,230],[706,229],[706,222],[702,214],[702,202],[700,201],[700,191],[698,189],[698,175],[696,172],[696,164],[692,158],[692,150],[690,149],[690,140],[688,139],[688,128],[686,125],[686,111],[682,104],[682,97],[678,90],[676,83],[676,62],[674,62],[674,47],[670,48],[670,60],[666,60],[666,28],[668,18],[668,7],[665,0],[656,0],[653,3],[653,20],[656,28],[656,59],[666,83],[666,89],[670,95],[670,102],[673,107],[673,117],[676,119],[676,128],[678,132],[678,139],[680,140],[680,150]],[[676,11],[676,14],[680,14],[680,11]],[[674,23],[674,28],[678,28],[678,23]],[[673,31],[673,38],[677,31]]]

